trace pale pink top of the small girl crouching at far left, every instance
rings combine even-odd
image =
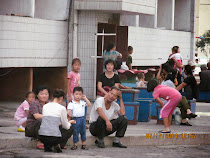
[[[29,110],[29,103],[25,100],[18,108],[17,111],[15,112],[14,120],[19,121],[22,118],[27,118],[27,113],[26,110]]]

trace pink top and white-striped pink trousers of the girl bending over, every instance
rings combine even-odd
[[[158,97],[163,98],[165,100],[168,100],[168,102],[162,107],[160,110],[160,118],[167,118],[169,115],[171,115],[176,108],[176,106],[180,103],[182,100],[182,96],[174,88],[165,86],[165,85],[158,85],[153,92],[154,99],[157,99]]]

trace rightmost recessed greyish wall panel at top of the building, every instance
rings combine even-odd
[[[175,0],[174,29],[191,30],[191,0]]]

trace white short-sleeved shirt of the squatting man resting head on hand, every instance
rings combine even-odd
[[[97,121],[99,114],[97,112],[98,108],[102,108],[104,114],[108,118],[108,120],[113,120],[118,118],[118,111],[120,110],[120,106],[116,102],[112,102],[111,106],[108,110],[106,110],[104,97],[100,97],[96,99],[95,103],[90,112],[90,123]]]

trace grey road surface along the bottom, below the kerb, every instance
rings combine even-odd
[[[209,158],[210,145],[205,146],[133,146],[127,149],[105,148],[99,149],[91,146],[88,151],[78,149],[63,150],[63,153],[45,153],[35,149],[7,149],[0,150],[1,158]]]

